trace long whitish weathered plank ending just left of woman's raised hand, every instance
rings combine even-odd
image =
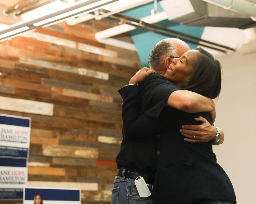
[[[65,72],[72,72],[75,74],[85,75],[85,76],[103,79],[103,80],[109,79],[109,75],[107,73],[89,70],[85,68],[79,68],[79,67],[77,68],[77,67],[68,66],[68,65],[61,65],[53,62],[43,61],[43,60],[35,60],[35,59],[28,59],[28,58],[21,57],[19,62],[23,64],[28,64],[28,65],[36,64],[36,65],[47,67],[50,69],[55,69],[55,70],[60,70]]]

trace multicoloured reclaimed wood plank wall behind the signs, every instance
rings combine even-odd
[[[0,113],[32,118],[28,186],[81,188],[82,203],[110,203],[122,140],[117,90],[141,67],[129,34],[94,38],[117,23],[62,22],[0,42]]]

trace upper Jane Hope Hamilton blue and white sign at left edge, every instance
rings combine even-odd
[[[0,114],[0,157],[28,159],[31,118]]]

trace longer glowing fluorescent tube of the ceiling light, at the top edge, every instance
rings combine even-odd
[[[50,22],[56,21],[58,19],[69,18],[70,16],[72,16],[72,15],[74,15],[76,13],[80,13],[81,11],[93,8],[95,6],[99,6],[99,5],[101,5],[103,3],[106,3],[106,2],[109,2],[109,0],[102,0],[102,1],[99,1],[99,2],[95,2],[95,3],[89,4],[87,6],[83,6],[81,8],[78,8],[78,9],[75,9],[75,10],[72,10],[72,11],[68,11],[68,12],[66,12],[64,14],[60,14],[60,15],[54,16],[52,18],[48,18],[48,19],[45,19],[43,21],[36,22],[33,25],[34,26],[41,26],[41,25],[44,25],[46,23],[50,23]],[[97,9],[100,9],[100,8],[97,8]],[[88,11],[88,12],[91,12],[91,10]]]

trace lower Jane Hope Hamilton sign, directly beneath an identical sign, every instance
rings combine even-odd
[[[0,158],[0,199],[22,200],[27,185],[27,160]]]

